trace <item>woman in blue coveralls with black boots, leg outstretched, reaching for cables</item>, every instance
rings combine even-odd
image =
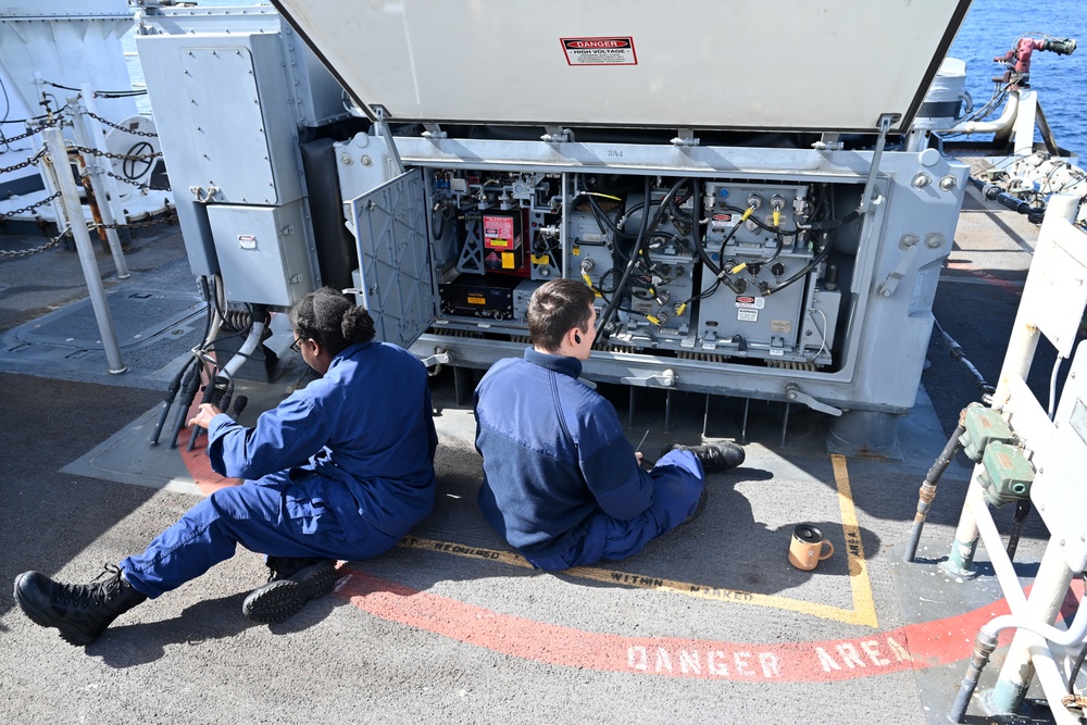
[[[332,591],[337,560],[391,549],[434,507],[434,453],[426,368],[405,350],[374,342],[365,309],[325,287],[290,311],[293,348],[322,378],[296,391],[253,428],[210,403],[190,424],[208,428],[220,474],[245,478],[202,500],[120,567],[91,584],[38,572],[15,579],[34,622],[73,645],[93,641],[123,612],[179,587],[234,555],[267,554],[268,583],[242,613],[282,622]]]

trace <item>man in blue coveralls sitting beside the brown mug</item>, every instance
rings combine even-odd
[[[615,409],[578,379],[596,336],[594,297],[574,279],[539,287],[528,304],[533,347],[496,363],[475,392],[479,507],[546,571],[638,553],[697,512],[705,472],[744,462],[735,443],[673,443],[641,468]]]

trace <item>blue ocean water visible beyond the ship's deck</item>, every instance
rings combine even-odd
[[[270,3],[199,0],[199,4],[223,8]],[[992,76],[1003,73],[1003,67],[992,59],[1008,52],[1025,34],[1079,41],[1080,48],[1072,55],[1036,51],[1030,85],[1038,91],[1058,143],[1080,155],[1087,154],[1087,0],[974,0],[950,55],[966,62],[966,88],[975,105],[980,107],[992,93]],[[135,51],[130,34],[124,42],[127,51]],[[894,59],[872,62],[892,63]],[[140,83],[142,73],[135,57],[129,57],[129,70],[134,83]],[[150,112],[146,99],[141,99],[140,111]],[[999,114],[997,109],[996,115]]]

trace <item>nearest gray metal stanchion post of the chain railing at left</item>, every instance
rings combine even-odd
[[[98,271],[98,260],[95,259],[95,247],[90,241],[90,235],[87,234],[87,221],[83,215],[83,204],[79,203],[79,192],[75,188],[75,179],[72,178],[72,172],[68,168],[64,137],[61,136],[60,128],[55,126],[43,128],[41,135],[46,148],[49,150],[42,157],[42,161],[52,167],[57,188],[60,189],[61,198],[64,201],[72,238],[75,239],[75,246],[79,252],[83,276],[87,279],[90,305],[93,308],[95,318],[98,321],[98,334],[102,338],[105,360],[109,363],[110,373],[120,375],[128,368],[121,358],[121,345],[117,341],[117,332],[113,327],[113,317],[110,316],[105,288],[102,286],[102,277]]]

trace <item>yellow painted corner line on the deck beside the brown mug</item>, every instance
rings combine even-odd
[[[808,602],[788,597],[775,597],[773,595],[760,595],[753,591],[742,591],[740,589],[724,589],[721,587],[710,587],[701,584],[688,582],[677,582],[655,576],[642,574],[629,574],[610,568],[598,568],[595,566],[578,566],[566,570],[561,574],[566,576],[603,582],[605,584],[619,584],[638,589],[654,589],[667,591],[670,593],[684,595],[695,599],[707,599],[711,601],[751,604],[752,607],[767,607],[771,609],[797,612],[810,616],[841,622],[845,624],[858,624],[870,627],[877,626],[875,600],[872,597],[872,584],[869,579],[867,566],[864,562],[864,547],[861,545],[860,527],[857,525],[857,512],[853,509],[852,492],[849,488],[849,475],[846,471],[846,459],[841,455],[833,455],[835,482],[838,487],[838,505],[841,510],[842,530],[846,536],[846,555],[849,566],[849,582],[852,590],[853,608],[842,609],[816,602]],[[405,549],[421,549],[425,551],[441,551],[455,557],[466,557],[468,559],[483,559],[495,561],[511,566],[522,568],[533,568],[523,557],[509,551],[497,549],[485,549],[482,547],[470,547],[450,541],[437,541],[435,539],[423,539],[414,536],[405,537],[400,546]]]

